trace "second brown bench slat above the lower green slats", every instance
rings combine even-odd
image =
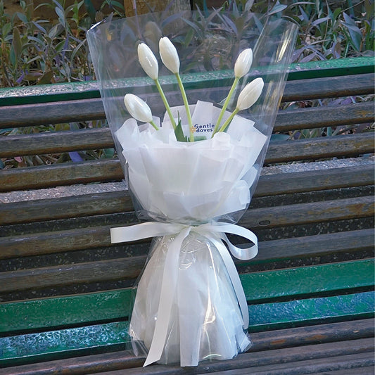
[[[373,215],[373,197],[363,196],[325,202],[255,208],[248,210],[239,224],[256,231],[257,229],[349,220],[358,217],[372,217]],[[14,254],[20,257],[110,246],[110,227],[118,226],[118,224],[108,224],[108,226],[102,227],[3,237],[0,242],[0,259],[11,258]]]

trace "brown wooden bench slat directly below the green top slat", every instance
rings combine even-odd
[[[227,95],[229,88],[220,89],[217,100]],[[312,100],[340,96],[358,96],[374,92],[374,75],[355,75],[346,77],[320,78],[314,81],[301,80],[286,83],[285,94],[282,98],[287,101]],[[121,94],[124,91],[122,90]],[[187,93],[191,101],[196,101],[195,92]],[[170,98],[170,105],[178,105],[179,96]],[[1,99],[0,99],[1,100]],[[158,98],[149,97],[148,103],[154,110],[163,104]],[[0,101],[1,104],[1,101]],[[163,110],[163,108],[160,108]],[[322,108],[320,108],[322,109]],[[327,109],[328,110],[328,109]],[[101,98],[66,100],[48,103],[32,103],[17,106],[2,106],[0,128],[49,125],[61,122],[80,122],[88,120],[103,120],[105,118]],[[334,117],[333,121],[334,121]]]

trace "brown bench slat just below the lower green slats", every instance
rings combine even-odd
[[[236,367],[233,366],[234,362],[241,362],[241,364],[243,364],[243,362],[246,362],[245,358],[252,361],[258,361],[258,363],[259,361],[266,364],[271,362],[273,363],[275,358],[275,350],[286,348],[286,350],[283,352],[279,352],[279,355],[283,357],[286,354],[293,356],[297,353],[291,352],[291,348],[293,346],[295,347],[300,345],[302,345],[302,348],[298,349],[299,355],[304,355],[301,350],[306,350],[305,352],[309,352],[311,355],[312,352],[316,352],[316,350],[312,348],[317,348],[316,345],[322,345],[325,343],[333,343],[336,350],[338,345],[340,345],[340,348],[343,348],[344,346],[345,349],[343,349],[341,353],[347,352],[346,350],[348,349],[350,352],[366,352],[368,350],[367,348],[371,350],[371,345],[373,345],[371,342],[371,337],[373,335],[373,319],[280,329],[277,331],[272,331],[272,334],[269,334],[269,332],[255,332],[251,335],[253,346],[250,348],[248,354],[241,354],[231,362],[211,362],[209,366],[213,371],[218,371],[219,369],[233,369],[233,367]],[[314,347],[310,345],[314,345]],[[327,348],[330,347],[331,345],[321,346],[324,352],[327,352]],[[269,352],[269,350],[272,351]],[[277,361],[281,362],[279,357],[277,357]],[[82,372],[91,374],[101,371],[114,371],[119,369],[125,372],[125,369],[141,367],[143,364],[143,358],[134,357],[131,352],[122,350],[117,352],[105,352],[96,355],[68,358],[65,360],[42,362],[39,364],[26,364],[23,366],[2,369],[2,372],[4,375],[49,375],[51,374],[51,369],[63,368],[66,369],[65,371],[70,375],[78,375],[82,374]],[[208,371],[207,366],[208,363],[201,364],[197,369],[202,368],[203,371],[204,367],[206,372]],[[181,370],[177,367],[172,367],[172,369],[175,371],[186,371],[186,369]],[[364,374],[367,375],[368,372]]]

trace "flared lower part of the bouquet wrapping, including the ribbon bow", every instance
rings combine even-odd
[[[254,244],[237,248],[225,232]],[[196,366],[245,351],[250,347],[246,296],[223,241],[237,258],[250,259],[258,253],[255,234],[223,223],[193,227],[148,222],[111,229],[113,242],[161,233],[165,235],[153,243],[134,301],[129,334],[136,354],[148,352],[145,366]]]

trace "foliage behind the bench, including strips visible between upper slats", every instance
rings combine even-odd
[[[331,2],[330,2],[331,1]],[[208,9],[206,0],[193,1],[194,8]],[[220,3],[220,1],[215,1]],[[95,10],[90,0],[75,1],[65,6],[65,0],[51,0],[39,7],[49,7],[53,19],[34,17],[32,3],[20,0],[20,11],[6,13],[0,0],[0,84],[1,87],[31,86],[56,82],[94,80],[86,32],[92,24],[102,20],[104,9],[114,18],[125,17],[122,1],[103,0]],[[374,56],[374,1],[373,0],[227,0],[222,1],[222,12],[229,19],[229,28],[241,30],[251,12],[286,18],[298,25],[298,40],[294,62],[319,61],[349,56]],[[203,26],[202,26],[203,27]],[[369,101],[373,96],[338,98],[325,101],[286,103],[288,108],[310,107]],[[82,127],[103,127],[105,121],[41,125],[35,127],[1,129],[0,136],[30,132],[54,132]],[[363,132],[373,125],[350,125],[332,129],[310,129],[278,134],[282,139],[331,136],[348,132]],[[65,161],[81,161],[113,157],[113,149],[72,153],[33,155],[0,160],[0,170]]]

